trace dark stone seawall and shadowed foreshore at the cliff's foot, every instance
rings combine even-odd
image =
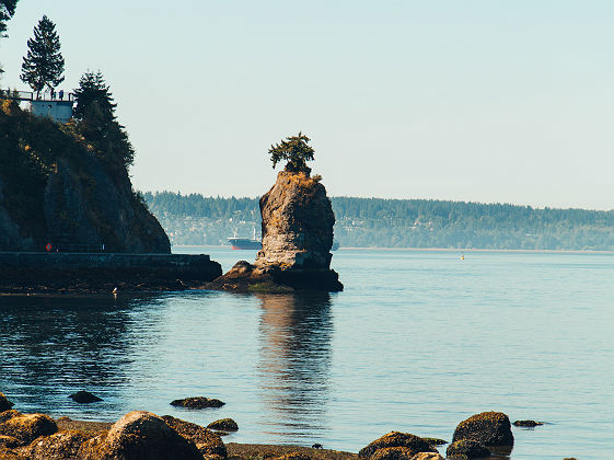
[[[0,252],[0,292],[198,288],[222,273],[208,255]]]

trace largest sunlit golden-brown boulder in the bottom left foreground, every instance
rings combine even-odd
[[[172,429],[150,412],[135,411],[124,415],[106,435],[83,444],[83,460],[201,460],[196,445]]]

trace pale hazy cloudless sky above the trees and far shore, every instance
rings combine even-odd
[[[43,14],[139,189],[260,195],[302,130],[329,195],[614,209],[612,0],[21,0],[0,85]]]

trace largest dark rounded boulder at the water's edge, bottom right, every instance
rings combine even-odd
[[[483,412],[461,422],[452,442],[471,439],[484,446],[513,446],[509,417],[502,412]]]

